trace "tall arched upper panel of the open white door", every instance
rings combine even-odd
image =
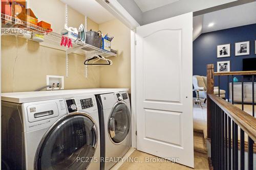
[[[144,82],[147,82],[144,84],[145,100],[179,102],[180,66],[176,63],[181,59],[181,30],[159,30],[143,39],[143,72]],[[164,57],[166,55],[172,57]],[[176,75],[173,75],[174,71]],[[173,90],[162,90],[169,87]]]

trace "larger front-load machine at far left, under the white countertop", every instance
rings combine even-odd
[[[95,95],[2,101],[2,159],[10,169],[99,169]]]

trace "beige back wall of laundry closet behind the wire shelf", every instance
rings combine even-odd
[[[56,0],[44,0],[45,3],[40,3],[41,0],[27,2],[39,20],[51,23],[55,32],[62,30],[65,4]],[[84,19],[82,14],[69,8],[70,27],[79,27]],[[88,29],[98,30],[98,24],[88,18]],[[16,41],[15,36],[2,36],[1,53],[2,92],[33,91],[46,85],[46,75],[66,75],[65,52],[40,46],[38,42],[19,37]],[[65,77],[65,89],[100,87],[99,67],[88,67],[89,75],[86,78],[84,59],[85,56],[82,55],[69,55],[69,77]]]

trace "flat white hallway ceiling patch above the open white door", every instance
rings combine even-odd
[[[179,0],[134,0],[137,6],[140,8],[142,12],[150,11],[155,8],[159,8],[168,4],[172,4]]]

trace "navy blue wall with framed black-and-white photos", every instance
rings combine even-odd
[[[256,40],[256,24],[201,34],[193,42],[193,75],[206,76],[207,64],[214,64],[215,71],[217,71],[218,61],[230,61],[230,71],[242,71],[243,58],[256,57],[254,52],[254,40]],[[234,55],[234,44],[241,41],[250,41],[250,55]],[[230,43],[231,56],[217,58],[217,45],[228,43]],[[236,77],[239,81],[241,80],[241,77]],[[218,86],[217,77],[215,77],[215,86]],[[221,89],[226,90],[227,98],[228,86],[226,76],[221,77],[220,87]]]

